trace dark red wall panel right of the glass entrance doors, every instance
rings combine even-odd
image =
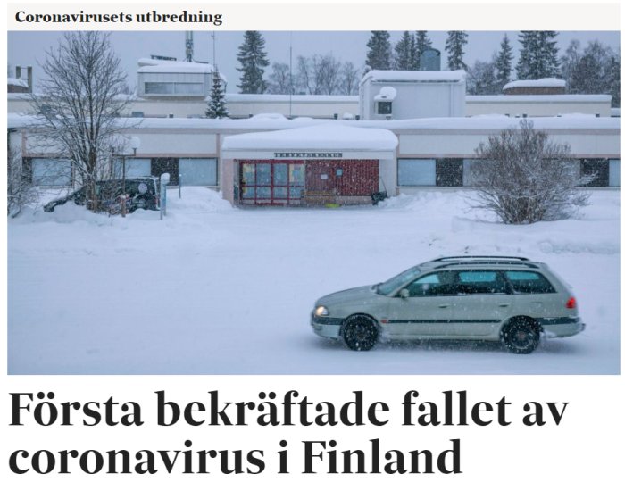
[[[306,162],[306,190],[371,195],[379,190],[377,159]]]

